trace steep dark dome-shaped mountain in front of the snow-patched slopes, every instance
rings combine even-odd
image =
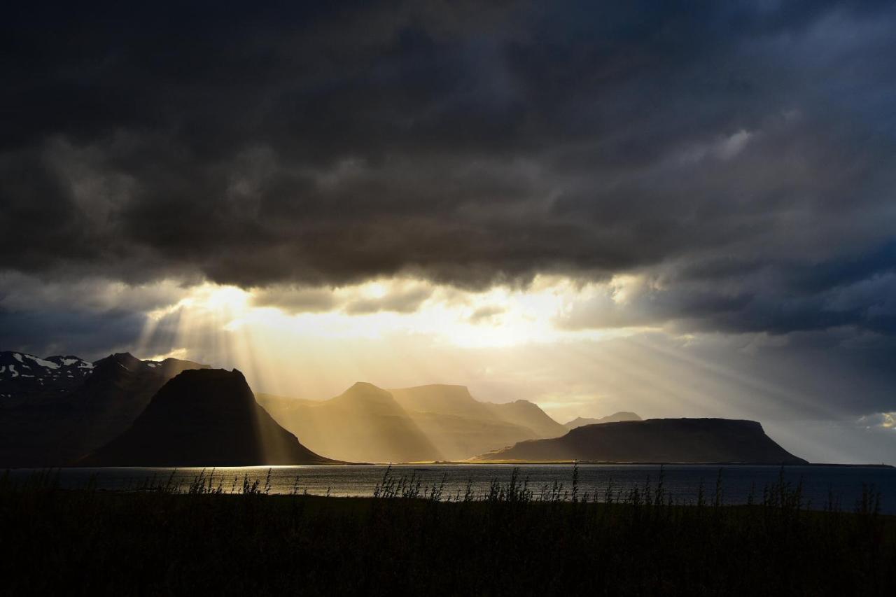
[[[121,436],[83,466],[253,466],[335,463],[302,446],[234,369],[187,370],[162,386]]]

